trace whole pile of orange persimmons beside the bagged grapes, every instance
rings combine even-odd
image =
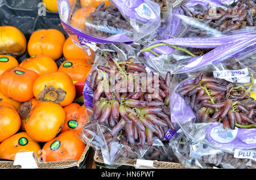
[[[56,11],[55,1],[44,2]],[[75,83],[85,82],[93,50],[57,29],[38,29],[28,42],[15,27],[0,30],[0,158],[14,161],[16,153],[34,151],[43,161],[79,160],[88,115],[83,103],[73,102]],[[20,62],[26,50],[30,57]]]

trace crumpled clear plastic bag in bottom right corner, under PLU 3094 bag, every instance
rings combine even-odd
[[[186,168],[256,168],[255,159],[249,158],[250,153],[255,153],[255,149],[250,152],[241,151],[236,154],[224,152],[187,138],[181,130],[177,131],[175,138],[170,140],[169,148],[172,149],[179,162],[184,164]]]

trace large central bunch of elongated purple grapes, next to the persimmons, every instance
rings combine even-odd
[[[166,78],[147,73],[146,66],[134,58],[117,62],[107,55],[107,62],[90,77],[92,119],[111,127],[109,136],[124,133],[127,142],[141,147],[145,142],[151,146],[154,134],[162,140],[168,128],[174,130],[169,108],[171,73]]]

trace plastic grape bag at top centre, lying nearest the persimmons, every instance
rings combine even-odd
[[[96,6],[58,0],[60,19],[69,35],[77,36],[81,45],[96,43],[131,44],[151,36],[160,26],[160,7],[149,0],[104,1]]]

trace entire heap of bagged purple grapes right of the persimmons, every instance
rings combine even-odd
[[[105,165],[167,157],[188,168],[255,168],[255,158],[238,156],[256,148],[254,1],[58,0],[58,7],[65,31],[94,50],[81,138]]]

